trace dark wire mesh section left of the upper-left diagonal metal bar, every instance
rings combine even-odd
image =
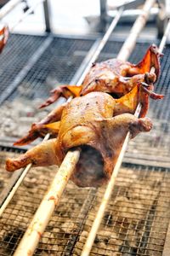
[[[11,34],[0,58],[0,91],[7,89],[45,37]]]

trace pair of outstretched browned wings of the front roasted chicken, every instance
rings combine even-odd
[[[143,84],[138,81],[136,86],[133,87],[133,90],[128,92],[125,96],[122,96],[119,99],[113,99],[113,102],[115,102],[113,108],[113,116],[121,113],[134,113],[138,104],[140,103],[141,111],[139,117],[144,117],[149,108],[149,97],[153,99],[161,99],[163,97],[154,93],[153,91],[150,91],[148,88],[150,87],[148,87],[147,84]],[[56,137],[56,123],[54,131],[48,129],[47,125],[59,121],[61,119],[63,110],[67,108],[67,105],[68,103],[62,104],[58,108],[54,109],[51,113],[49,113],[48,116],[42,119],[39,123],[33,124],[26,137],[22,137],[17,142],[15,142],[14,145],[21,146],[31,143],[37,139],[37,137],[44,137],[48,132],[51,134],[51,137]]]

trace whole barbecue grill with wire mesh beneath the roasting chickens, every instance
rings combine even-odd
[[[14,8],[18,2],[10,1],[6,10]],[[105,9],[103,2],[101,9]],[[44,6],[49,31],[47,1]],[[118,12],[122,15],[122,9]],[[110,28],[112,31],[114,27]],[[7,124],[3,129],[6,130],[0,137],[0,203],[3,209],[0,218],[0,255],[13,255],[16,252],[56,173],[56,166],[31,168],[26,172],[26,177],[22,177],[25,170],[14,172],[13,175],[4,171],[6,157],[26,152],[27,149],[11,146],[16,134],[20,137],[22,132],[16,119],[20,118],[27,129],[39,114],[35,110],[37,97],[46,98],[49,88],[52,89],[56,83],[76,84],[80,81],[96,52],[98,61],[116,57],[125,38],[115,38],[114,33],[107,31],[106,34],[105,40],[102,40],[101,36],[96,39],[93,36],[71,37],[52,33],[42,36],[13,33],[0,55],[0,103],[2,114],[8,112],[5,115]],[[129,61],[139,61],[152,43],[138,39]],[[159,45],[160,39],[154,43]],[[90,255],[167,256],[170,253],[169,44],[163,53],[156,92],[165,94],[165,98],[161,102],[150,102],[148,116],[153,119],[153,130],[128,143]],[[24,104],[31,107],[23,113],[20,106]],[[14,121],[10,126],[8,119],[11,120],[13,114]],[[14,189],[19,180],[20,186]],[[82,189],[69,182],[43,234],[39,234],[34,255],[81,255],[82,251],[85,252],[83,247],[106,187]],[[15,193],[13,190],[16,190]],[[31,249],[30,255],[33,253]]]

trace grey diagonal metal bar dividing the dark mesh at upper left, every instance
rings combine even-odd
[[[26,63],[26,66],[22,68],[20,73],[15,77],[14,81],[8,85],[8,88],[3,91],[0,96],[0,105],[8,98],[8,96],[17,88],[20,82],[26,77],[26,74],[30,71],[31,67],[37,62],[42,53],[48,48],[49,44],[53,41],[53,38],[50,36],[43,44],[37,49],[37,51],[31,56],[30,60]]]

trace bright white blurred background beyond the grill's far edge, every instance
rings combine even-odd
[[[8,1],[0,1],[1,7]],[[42,33],[45,30],[43,4],[41,1],[23,0],[3,18],[10,26],[16,22],[23,12],[31,6],[37,5],[31,15],[28,15],[23,22],[15,27],[14,32]],[[89,34],[94,32],[105,32],[112,18],[116,15],[116,10],[124,8],[122,18],[116,27],[116,34],[122,36],[128,32],[131,23],[140,14],[144,0],[48,0],[48,16],[50,28],[54,33],[66,34]],[[159,0],[150,11],[150,18],[147,28],[142,36],[147,38],[156,36],[156,26],[159,32],[163,30],[170,13],[170,1]]]

